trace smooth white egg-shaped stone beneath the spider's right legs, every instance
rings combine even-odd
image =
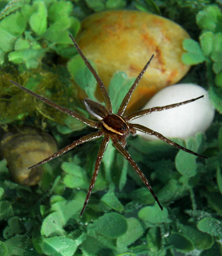
[[[204,132],[214,119],[214,107],[208,92],[194,84],[178,84],[166,87],[149,100],[143,109],[162,107],[173,103],[190,100],[204,95],[203,98],[177,108],[152,112],[131,121],[142,124],[166,137],[187,138],[197,132]],[[158,139],[142,132],[137,134],[147,139]]]

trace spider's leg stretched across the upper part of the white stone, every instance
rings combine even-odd
[[[193,102],[195,100],[201,99],[203,97],[204,97],[204,95],[202,95],[200,97],[197,97],[195,99],[186,100],[186,101],[170,104],[170,105],[163,106],[163,107],[154,107],[154,108],[150,108],[150,109],[139,110],[139,111],[136,111],[136,112],[134,112],[134,113],[132,113],[130,115],[127,115],[127,117],[125,117],[125,120],[126,121],[131,121],[131,120],[134,120],[136,118],[143,117],[143,115],[150,114],[151,112],[162,111],[162,110],[166,110],[166,109],[176,108],[176,107],[179,107],[181,105],[184,105],[184,104],[187,104],[187,103],[191,103],[191,102]]]

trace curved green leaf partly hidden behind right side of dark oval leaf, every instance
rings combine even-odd
[[[141,223],[136,218],[127,218],[126,221],[128,227],[125,234],[116,239],[116,245],[119,248],[131,245],[131,243],[134,243],[144,233]]]

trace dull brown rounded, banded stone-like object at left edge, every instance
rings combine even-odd
[[[31,170],[28,167],[56,151],[57,146],[51,135],[30,127],[6,133],[1,140],[1,156],[7,160],[11,179],[22,185],[38,184],[44,167]]]

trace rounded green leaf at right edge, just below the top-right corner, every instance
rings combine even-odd
[[[206,6],[196,15],[197,25],[201,29],[205,29],[212,32],[222,31],[221,19],[221,10],[216,5]]]

